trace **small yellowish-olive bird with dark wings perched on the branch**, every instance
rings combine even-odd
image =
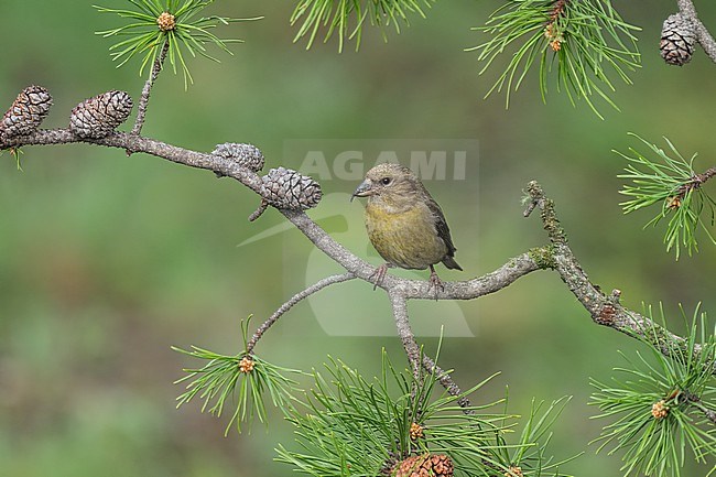
[[[386,260],[376,270],[373,290],[389,267],[430,268],[430,286],[444,289],[434,265],[463,270],[455,261],[455,246],[440,205],[408,167],[378,164],[366,174],[354,197],[368,197],[365,219],[368,237]]]

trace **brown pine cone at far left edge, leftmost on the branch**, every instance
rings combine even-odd
[[[0,121],[0,139],[14,138],[34,132],[45,119],[52,96],[42,86],[28,86]]]

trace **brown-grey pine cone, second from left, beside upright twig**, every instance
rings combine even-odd
[[[102,93],[72,110],[69,129],[80,138],[104,138],[127,120],[133,106],[132,98],[124,91]]]

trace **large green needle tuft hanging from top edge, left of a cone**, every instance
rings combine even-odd
[[[594,101],[601,98],[618,109],[609,97],[615,90],[608,73],[631,84],[627,72],[640,66],[637,26],[626,23],[609,0],[508,0],[490,15],[481,31],[490,39],[467,51],[479,52],[484,74],[496,59],[513,47],[505,71],[485,97],[495,91],[517,91],[532,67],[538,68],[542,100],[546,101],[550,75],[556,69],[556,89],[569,101],[584,99],[599,118]],[[497,67],[497,66],[496,66]]]

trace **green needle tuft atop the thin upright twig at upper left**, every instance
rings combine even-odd
[[[174,74],[177,69],[184,76],[184,87],[193,84],[192,74],[185,61],[185,53],[193,57],[197,54],[214,62],[217,58],[209,55],[206,45],[223,50],[232,54],[227,43],[240,43],[241,40],[221,40],[211,33],[216,26],[228,25],[231,22],[259,20],[231,19],[227,17],[200,17],[199,12],[211,4],[214,0],[127,0],[135,7],[135,10],[110,9],[94,6],[102,13],[115,13],[131,23],[116,29],[96,32],[104,37],[128,36],[110,46],[110,54],[113,61],[119,62],[117,67],[123,66],[134,56],[141,57],[139,74],[143,75],[148,65],[153,65],[160,58],[162,51],[167,51],[167,57]],[[167,12],[174,15],[174,28],[162,31],[159,28],[158,19],[162,13]],[[150,66],[151,67],[151,66]]]

